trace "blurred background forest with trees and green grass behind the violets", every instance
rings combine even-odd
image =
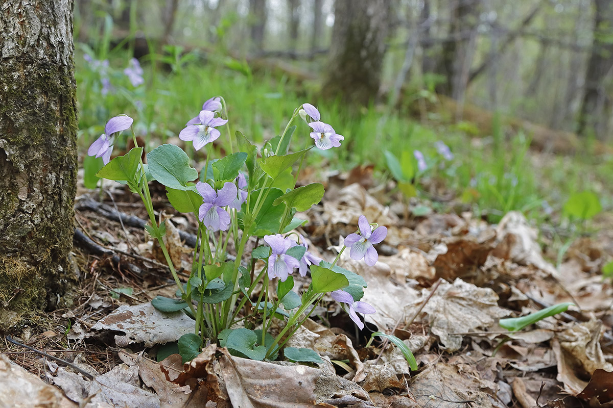
[[[121,112],[146,141],[176,137],[215,95],[263,141],[311,102],[346,138],[316,160],[372,165],[408,196],[494,219],[549,217],[582,190],[612,206],[612,1],[78,0],[74,15],[82,146]]]

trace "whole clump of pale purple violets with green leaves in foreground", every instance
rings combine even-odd
[[[202,108],[181,130],[180,139],[192,141],[194,149],[200,150],[221,136],[217,127],[226,125],[230,150],[237,146],[238,151],[213,158],[215,149],[208,149],[200,172],[192,167],[188,154],[173,144],[151,150],[147,164],[143,163],[143,147],[138,146],[128,116],[110,119],[105,133],[88,150],[89,155],[104,158],[97,176],[128,185],[147,209],[146,229],[158,241],[177,284],[177,299],[158,296],[153,306],[164,312],[183,310],[195,321],[194,333],[178,341],[183,358],[189,359],[208,340],[217,341],[235,355],[274,359],[328,293],[348,310],[356,325],[364,328],[357,313],[375,313],[375,309],[360,301],[367,287],[364,279],[337,265],[346,247],[329,263],[309,253],[304,238],[292,232],[306,222],[295,213],[310,209],[324,195],[320,183],[295,187],[305,155],[313,147],[339,147],[343,136],[320,121],[318,109],[305,103],[294,110],[280,136],[258,149],[240,132],[232,138],[228,120],[220,116],[222,112],[227,116],[223,98],[211,98]],[[292,123],[297,117],[310,127],[305,131],[314,146],[306,136],[301,138],[305,148],[291,152],[296,129]],[[136,147],[110,160],[112,139],[128,129]],[[288,174],[291,184],[286,181]],[[167,198],[178,212],[192,213],[198,223],[191,274],[185,283],[164,244],[166,225],[153,210],[148,187],[153,180],[166,187]],[[368,265],[374,265],[378,254],[373,245],[386,234],[386,227],[359,217],[358,231],[345,239],[351,247],[351,258],[364,258]],[[246,253],[254,243],[255,248]],[[229,248],[233,248],[232,253]],[[259,260],[263,267],[257,271]],[[310,270],[307,289],[294,288],[295,270],[301,276]],[[270,333],[273,317],[285,323],[274,337]],[[310,355],[302,352],[310,359],[306,361],[317,357],[314,351]],[[295,360],[294,350],[292,355]]]

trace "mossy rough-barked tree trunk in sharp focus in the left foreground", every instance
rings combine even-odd
[[[0,14],[0,332],[37,324],[72,276],[77,179],[72,0]]]

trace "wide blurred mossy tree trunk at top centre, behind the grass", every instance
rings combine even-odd
[[[322,94],[367,105],[376,97],[389,32],[390,0],[337,0]]]

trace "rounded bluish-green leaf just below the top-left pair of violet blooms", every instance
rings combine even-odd
[[[162,144],[151,150],[147,164],[159,183],[175,190],[192,190],[188,183],[198,178],[198,171],[189,165],[188,155],[174,144]]]

